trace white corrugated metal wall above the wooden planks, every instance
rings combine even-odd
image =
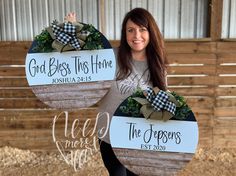
[[[153,14],[166,39],[204,38],[208,37],[208,6],[207,0],[0,0],[0,40],[33,40],[54,19],[61,22],[70,11],[96,28],[102,29],[104,24],[101,32],[110,40],[119,40],[123,17],[135,7]],[[222,37],[235,38],[235,28],[236,0],[224,0]]]

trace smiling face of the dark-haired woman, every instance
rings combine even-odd
[[[126,23],[126,40],[131,52],[145,52],[149,43],[149,32],[146,27],[138,26],[129,19]]]

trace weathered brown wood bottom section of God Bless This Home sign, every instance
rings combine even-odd
[[[109,91],[111,81],[83,82],[32,86],[35,95],[45,104],[57,109],[76,109],[93,106]]]

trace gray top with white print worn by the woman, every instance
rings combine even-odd
[[[119,68],[118,68],[119,69]],[[117,69],[117,70],[118,70]],[[109,125],[119,105],[140,87],[145,90],[151,86],[146,61],[132,60],[132,73],[124,80],[113,81],[110,90],[98,104],[98,137],[110,143]]]

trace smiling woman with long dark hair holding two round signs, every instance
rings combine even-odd
[[[74,15],[70,14],[66,19],[73,22]],[[142,8],[128,12],[122,23],[120,46],[117,51],[116,80],[99,102],[99,112],[108,112],[111,118],[116,108],[138,87],[145,90],[152,86],[165,91],[166,63],[164,41],[153,16]],[[98,129],[106,123],[107,115],[101,116]],[[109,131],[105,137],[100,138],[100,151],[111,176],[135,175],[127,170],[113,153]]]

